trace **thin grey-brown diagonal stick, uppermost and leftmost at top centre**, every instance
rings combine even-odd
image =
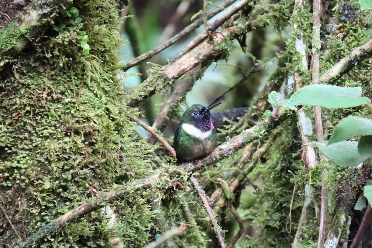
[[[227,0],[224,3],[222,3],[220,6],[212,10],[208,13],[208,19],[211,19],[213,16],[217,15],[219,12],[224,10],[226,7],[233,4],[236,0]],[[191,23],[189,26],[187,26],[185,29],[183,29],[181,32],[177,33],[177,35],[173,36],[169,41],[161,44],[160,46],[157,46],[156,48],[145,52],[144,54],[138,56],[137,58],[132,59],[128,63],[126,63],[125,67],[122,68],[123,71],[128,70],[129,68],[132,68],[138,64],[140,64],[142,61],[145,61],[149,58],[152,58],[154,55],[158,54],[159,52],[163,51],[167,47],[175,44],[177,41],[179,41],[181,38],[183,38],[185,35],[191,33],[193,30],[198,28],[200,25],[203,24],[203,18],[199,18],[195,22]]]

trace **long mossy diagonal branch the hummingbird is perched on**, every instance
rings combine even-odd
[[[217,146],[217,148],[214,149],[214,151],[207,157],[202,158],[201,160],[198,161],[186,162],[184,164],[179,165],[177,169],[183,170],[185,171],[185,173],[190,174],[195,171],[201,170],[206,165],[212,164],[215,161],[228,157],[232,155],[234,151],[237,151],[238,149],[246,146],[247,144],[257,140],[258,138],[260,138],[259,133],[269,132],[270,130],[276,128],[280,123],[282,123],[287,118],[288,116],[284,115],[281,116],[278,120],[273,120],[271,116],[266,117],[252,128],[247,129],[240,135],[235,136],[234,138],[230,139],[230,141]],[[37,244],[43,237],[50,235],[57,229],[61,228],[62,226],[65,226],[67,222],[81,218],[93,212],[94,210],[99,209],[104,204],[114,202],[115,200],[118,199],[123,199],[130,195],[130,192],[137,192],[137,190],[150,187],[155,181],[160,180],[161,177],[166,177],[166,180],[168,181],[180,180],[180,178],[178,178],[177,175],[174,177],[170,177],[170,175],[167,173],[167,169],[164,169],[161,170],[161,173],[150,175],[148,177],[141,178],[138,180],[134,180],[130,183],[126,183],[121,186],[115,186],[115,188],[111,189],[110,191],[99,192],[96,197],[92,197],[86,202],[82,202],[80,206],[76,207],[73,210],[70,210],[69,212],[65,213],[59,218],[52,220],[47,225],[44,225],[41,228],[39,228],[39,230],[33,233],[27,239],[26,242],[20,242],[19,247]],[[156,185],[160,184],[157,183]],[[171,187],[171,183],[169,183],[169,187]]]

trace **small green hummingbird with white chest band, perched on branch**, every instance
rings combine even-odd
[[[211,107],[193,104],[185,110],[174,131],[173,148],[177,164],[204,157],[217,146],[218,138],[210,110],[221,103]]]

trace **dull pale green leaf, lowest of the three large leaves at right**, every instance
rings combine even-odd
[[[328,146],[320,142],[310,142],[308,145],[318,147],[324,155],[341,167],[357,166],[368,158],[359,154],[356,141],[341,141]]]

